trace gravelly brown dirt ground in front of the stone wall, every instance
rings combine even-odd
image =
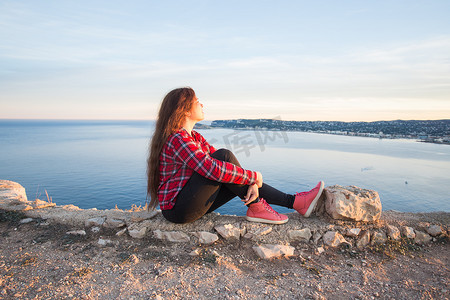
[[[107,231],[74,236],[64,225],[19,221],[0,218],[0,299],[450,298],[448,236],[321,254],[298,243],[295,256],[262,260],[246,240],[202,246]]]

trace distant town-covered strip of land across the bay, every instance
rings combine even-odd
[[[283,121],[279,119],[215,120],[197,128],[283,130],[365,136],[387,139],[417,139],[421,142],[450,145],[450,119],[395,120],[376,122]]]

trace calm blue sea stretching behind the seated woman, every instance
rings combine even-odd
[[[28,199],[129,209],[144,205],[152,121],[0,120],[0,179]],[[450,211],[450,146],[305,132],[199,129],[287,193],[325,185],[376,190],[383,210]],[[290,210],[277,207],[280,212]],[[245,215],[234,199],[218,210]]]

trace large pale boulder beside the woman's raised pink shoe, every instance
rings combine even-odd
[[[374,222],[381,217],[381,201],[373,190],[334,185],[325,188],[325,208],[333,219]]]

